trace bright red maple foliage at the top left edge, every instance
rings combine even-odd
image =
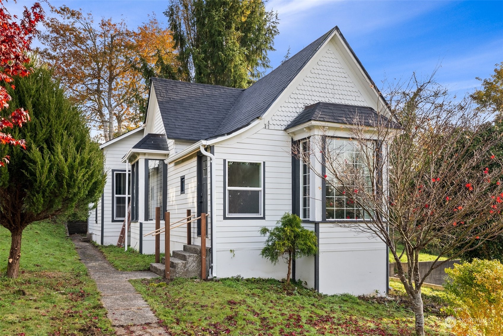
[[[7,2],[7,1],[6,1]],[[25,7],[23,19],[18,23],[17,16],[12,16],[0,0],[0,110],[9,108],[9,101],[12,99],[7,92],[5,85],[12,82],[12,76],[28,76],[30,71],[25,64],[30,61],[27,52],[31,50],[30,44],[33,35],[37,33],[36,25],[44,19],[42,7],[35,3],[30,9]],[[10,146],[21,146],[26,148],[24,140],[12,137],[10,133],[3,132],[4,128],[13,128],[15,125],[21,127],[23,123],[30,120],[28,111],[18,108],[7,118],[0,117],[0,144]],[[9,163],[9,156],[0,158],[0,167]]]

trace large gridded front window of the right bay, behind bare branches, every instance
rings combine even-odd
[[[339,171],[349,170],[355,174],[351,178],[355,179],[355,176],[359,176],[358,178],[364,181],[366,188],[372,187],[370,171],[367,165],[364,164],[364,156],[356,147],[355,142],[327,138],[326,149],[329,151],[328,158],[334,162],[331,165],[333,169],[338,169]],[[350,167],[350,169],[346,169],[345,167]],[[357,186],[348,183],[346,184],[347,190],[343,190],[343,185],[330,174],[329,169],[327,169],[326,175],[326,219],[368,219],[368,214],[355,202],[355,198],[358,197],[355,193],[355,190],[358,190]],[[348,197],[349,195],[352,197]]]

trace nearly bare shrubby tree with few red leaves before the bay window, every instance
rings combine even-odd
[[[416,333],[423,335],[426,277],[503,232],[503,158],[491,152],[503,133],[487,132],[493,116],[478,114],[469,99],[453,102],[433,76],[425,81],[413,76],[386,98],[389,108],[375,120],[357,114],[344,134],[340,127],[321,129],[311,146],[322,153],[301,159],[310,162],[319,183],[361,209],[359,217],[334,225],[372,234],[389,247],[413,304]],[[358,153],[354,160],[325,145],[328,137],[343,136]],[[293,152],[298,154],[295,146]],[[440,241],[438,258],[420,273],[418,255],[434,240]]]

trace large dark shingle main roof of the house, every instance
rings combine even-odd
[[[166,136],[198,141],[248,125],[267,111],[336,28],[247,89],[153,78]]]

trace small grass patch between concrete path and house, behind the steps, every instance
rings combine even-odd
[[[115,245],[103,246],[96,244],[96,247],[103,252],[108,262],[119,271],[148,271],[150,263],[155,262],[154,254],[140,254],[131,247],[127,251],[124,250],[124,247]],[[163,256],[164,253],[160,253],[160,258]]]

